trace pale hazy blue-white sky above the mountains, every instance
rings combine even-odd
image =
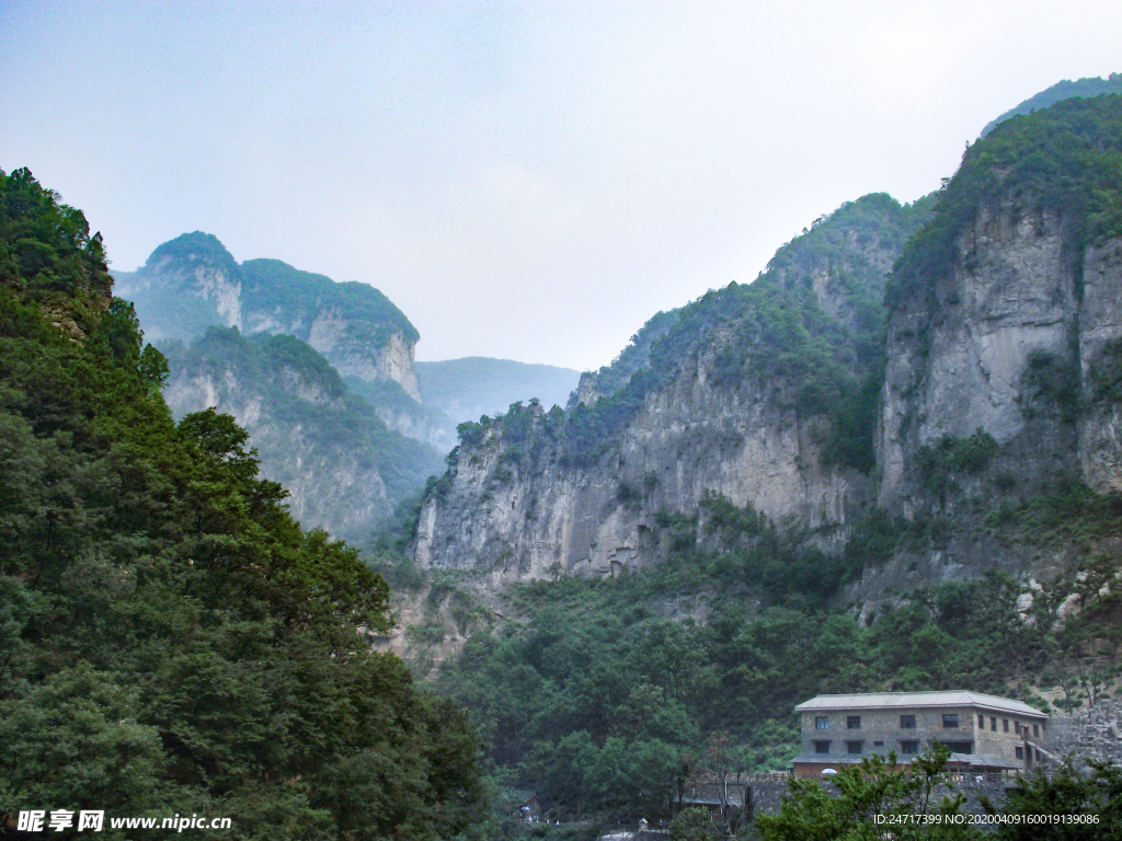
[[[419,359],[587,369],[1120,45],[1118,0],[3,0],[0,168],[116,268],[202,230],[377,286]]]

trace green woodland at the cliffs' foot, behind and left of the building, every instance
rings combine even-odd
[[[756,542],[767,545],[766,529]],[[741,553],[692,547],[615,579],[515,586],[508,610],[523,619],[469,638],[438,687],[469,710],[491,771],[509,785],[570,817],[637,820],[670,813],[721,733],[732,745],[721,767],[734,777],[783,768],[799,749],[793,706],[817,693],[1008,694],[1047,659],[1011,579],[917,591],[864,627],[799,592],[820,585],[827,567],[760,563],[792,607],[756,610],[760,584]],[[689,618],[695,610],[705,625]]]

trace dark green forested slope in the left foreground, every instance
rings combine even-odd
[[[82,213],[0,173],[0,832],[66,808],[105,838],[472,835],[463,714],[360,632],[385,582],[293,521],[229,416],[175,424],[166,376]]]

